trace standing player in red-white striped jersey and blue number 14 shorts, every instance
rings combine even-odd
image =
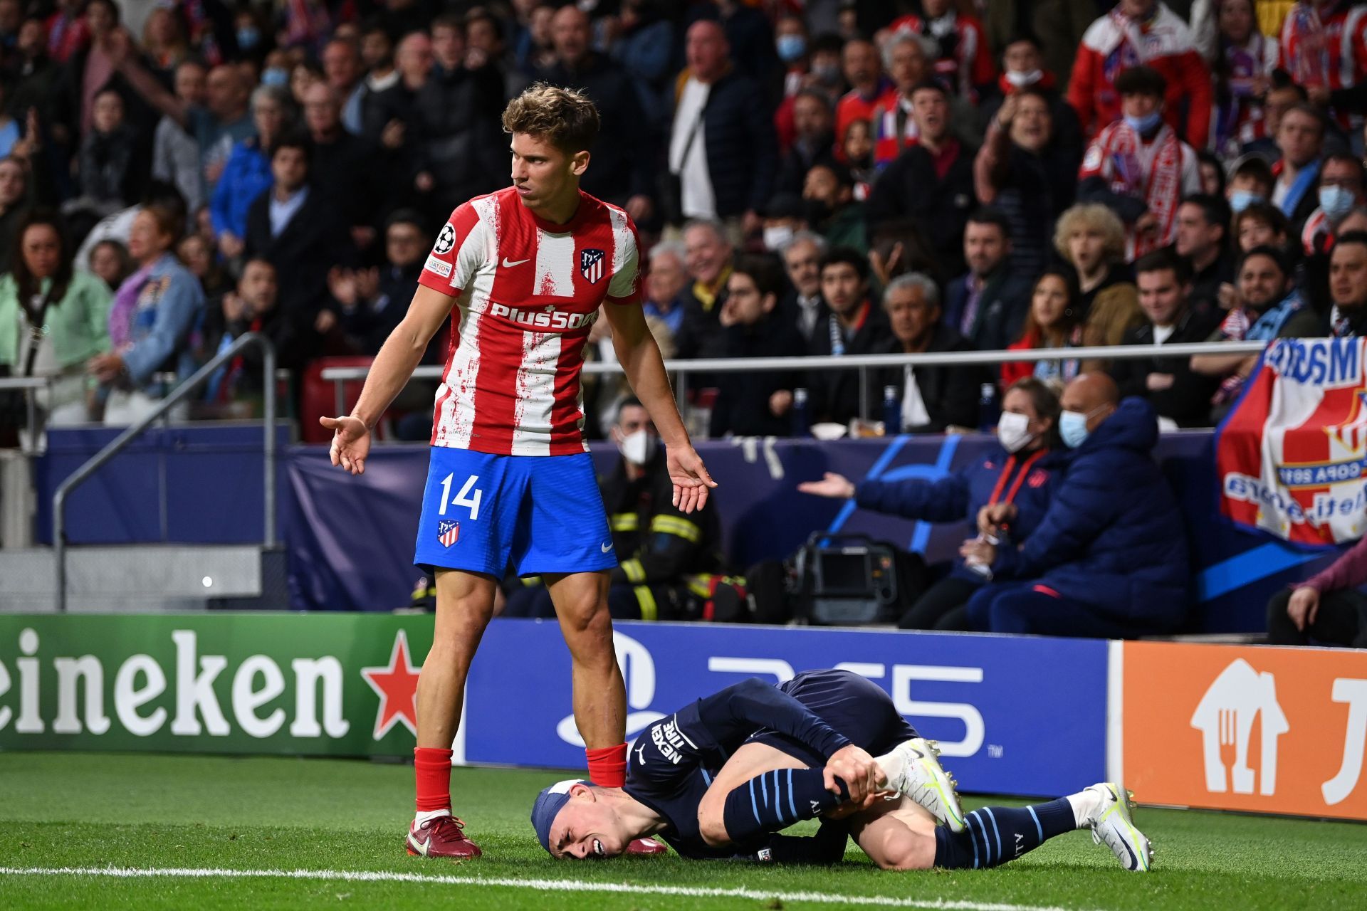
[[[581,433],[580,367],[600,305],[622,369],[668,447],[675,504],[699,509],[716,486],[645,326],[636,225],[580,191],[599,131],[593,102],[536,85],[509,102],[503,130],[513,135],[513,186],[451,213],[355,408],[323,418],[335,430],[332,464],[361,474],[370,429],[452,314],[414,556],[436,572],[436,628],[417,694],[417,817],[406,843],[422,856],[480,854],[451,815],[450,746],[510,561],[519,575],[540,575],[555,602],[589,777],[623,783],[626,694],[607,608],[617,556]]]

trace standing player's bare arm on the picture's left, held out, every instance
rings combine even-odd
[[[399,395],[413,369],[422,359],[428,343],[451,313],[451,296],[420,284],[403,321],[384,340],[380,354],[365,377],[361,397],[350,415],[319,418],[319,423],[332,430],[332,464],[351,474],[365,473],[365,459],[370,453],[370,430],[380,415]]]

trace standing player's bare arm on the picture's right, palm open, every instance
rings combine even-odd
[[[684,512],[701,509],[707,505],[707,492],[716,486],[716,481],[707,473],[703,458],[693,449],[684,429],[670,378],[664,373],[664,358],[645,325],[645,314],[640,307],[611,303],[604,309],[612,324],[617,359],[664,441],[670,479],[674,481],[674,505]]]

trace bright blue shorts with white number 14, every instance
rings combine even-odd
[[[489,455],[432,447],[413,563],[502,578],[617,565],[588,452]]]

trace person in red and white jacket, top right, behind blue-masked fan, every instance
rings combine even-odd
[[[1095,137],[1120,120],[1115,76],[1137,66],[1163,74],[1167,123],[1191,146],[1204,149],[1214,101],[1210,70],[1187,23],[1159,0],[1121,0],[1083,36],[1068,83],[1068,102],[1077,111],[1083,134]]]

